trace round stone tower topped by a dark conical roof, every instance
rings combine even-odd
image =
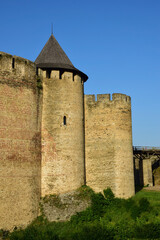
[[[53,35],[36,61],[42,81],[41,195],[84,184],[84,89],[76,69]]]

